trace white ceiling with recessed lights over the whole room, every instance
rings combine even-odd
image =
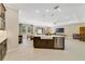
[[[20,21],[47,24],[85,22],[85,3],[8,3],[5,5],[19,10]],[[59,9],[54,10],[56,5],[59,5],[60,11]]]

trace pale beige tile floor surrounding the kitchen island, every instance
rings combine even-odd
[[[85,61],[85,42],[66,39],[65,50],[34,49],[32,41],[6,53],[4,61]]]

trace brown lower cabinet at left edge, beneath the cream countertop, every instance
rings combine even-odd
[[[6,39],[0,43],[0,61],[4,59],[6,54]]]

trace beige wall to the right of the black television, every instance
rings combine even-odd
[[[68,37],[72,38],[73,34],[80,34],[80,27],[82,27],[82,26],[85,26],[85,23],[77,23],[77,24],[66,25],[66,26],[63,26],[65,34]]]

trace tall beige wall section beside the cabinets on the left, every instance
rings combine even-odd
[[[6,8],[5,27],[8,33],[8,50],[12,50],[18,46],[18,12]]]

